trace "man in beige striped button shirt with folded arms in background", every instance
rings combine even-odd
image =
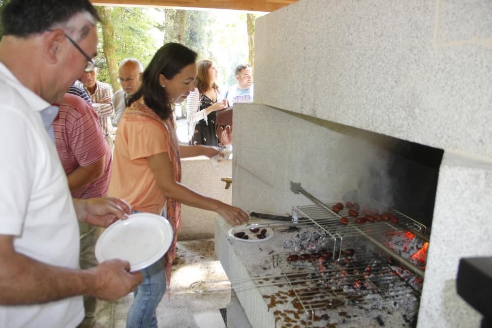
[[[101,123],[102,134],[109,145],[109,149],[113,151],[114,144],[111,138],[113,126],[111,125],[111,117],[113,116],[113,89],[107,83],[97,81],[97,67],[90,71],[86,71],[80,77],[80,81],[76,82],[77,87],[83,88],[92,100],[99,122]]]

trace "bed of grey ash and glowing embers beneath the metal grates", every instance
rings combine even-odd
[[[333,248],[333,239],[315,228],[304,228],[288,238],[283,240],[283,248],[289,254]],[[404,239],[397,237],[397,245]],[[360,239],[345,240],[342,250],[350,247],[355,254],[342,253],[339,260],[286,261],[287,254],[281,254],[279,267],[295,293],[289,294],[285,303],[276,303],[279,327],[290,327],[286,325],[296,320],[302,327],[415,327],[422,280],[400,263],[377,256],[366,245]],[[408,238],[405,246],[409,252],[421,247]],[[304,309],[312,309],[312,315]],[[297,310],[304,314],[291,317]]]

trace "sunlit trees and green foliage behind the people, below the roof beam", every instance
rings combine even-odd
[[[223,87],[235,83],[234,70],[238,64],[252,60],[252,36],[248,32],[254,33],[254,26],[251,29],[254,14],[248,14],[248,27],[246,13],[233,10],[108,8],[111,8],[111,22],[99,25],[99,35],[103,38],[95,61],[99,66],[99,80],[111,85],[114,84],[111,63],[108,66],[110,58],[117,62],[136,58],[146,67],[157,49],[167,42],[184,44],[198,53],[198,59],[214,60],[219,71],[218,83]],[[113,38],[104,37],[103,29],[108,26],[114,29]],[[105,54],[108,50],[104,50],[106,40],[115,45],[114,54],[109,57]]]

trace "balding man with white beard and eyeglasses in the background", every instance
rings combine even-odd
[[[136,59],[127,58],[120,63],[120,67],[118,68],[118,82],[120,82],[123,89],[116,91],[113,95],[116,124],[120,122],[123,116],[128,97],[140,89],[143,72],[144,66]]]

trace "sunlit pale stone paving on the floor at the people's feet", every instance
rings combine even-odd
[[[191,284],[196,281],[214,281],[201,284],[202,289],[221,289],[195,293]],[[222,282],[217,282],[222,281]],[[224,328],[219,309],[230,300],[230,284],[217,261],[214,239],[178,242],[178,258],[171,275],[170,294],[157,308],[159,328]],[[98,301],[93,320],[85,320],[81,328],[124,328],[126,314],[133,301],[129,294],[116,302]]]

